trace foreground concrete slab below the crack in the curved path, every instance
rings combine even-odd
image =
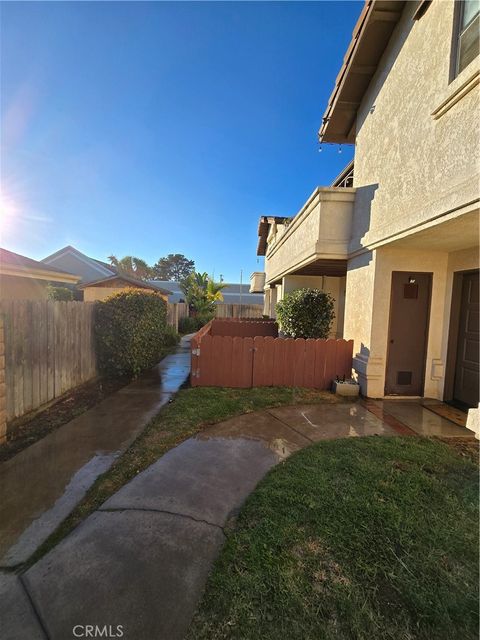
[[[25,586],[50,640],[73,639],[77,624],[121,625],[125,640],[180,640],[223,541],[219,527],[189,518],[97,512],[28,571]]]

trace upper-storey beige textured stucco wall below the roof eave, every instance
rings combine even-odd
[[[432,2],[414,21],[416,7],[406,3],[358,111],[351,251],[479,195],[478,85],[458,99],[479,59],[450,82],[454,3]]]

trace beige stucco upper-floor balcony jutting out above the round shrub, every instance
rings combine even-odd
[[[344,276],[354,201],[354,188],[319,187],[294,218],[262,218],[257,253],[265,255],[267,284],[286,275]]]

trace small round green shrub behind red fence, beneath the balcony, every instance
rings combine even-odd
[[[320,289],[297,289],[276,305],[277,319],[288,338],[328,338],[334,299]]]

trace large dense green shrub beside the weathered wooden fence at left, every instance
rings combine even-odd
[[[167,305],[153,291],[128,289],[95,308],[99,369],[108,375],[137,375],[156,364],[165,345]]]

